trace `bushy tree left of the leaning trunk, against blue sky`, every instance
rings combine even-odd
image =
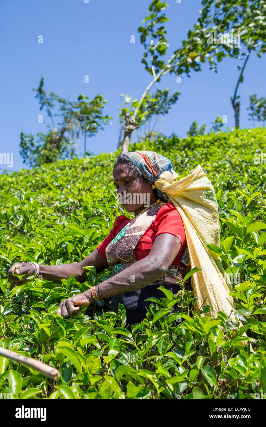
[[[32,134],[20,133],[20,155],[23,163],[31,167],[52,163],[57,159],[73,158],[74,141],[81,134],[85,137],[86,152],[86,135],[90,137],[95,135],[111,119],[108,115],[102,114],[106,104],[102,95],[96,95],[90,102],[87,101],[88,97],[79,95],[78,101],[70,102],[51,91],[44,91],[43,76],[38,89],[32,91],[36,92],[35,98],[39,100],[40,110],[45,108],[47,116],[51,119],[51,125],[47,126],[46,133],[38,132],[36,140]],[[59,121],[55,124],[56,117],[59,117]]]

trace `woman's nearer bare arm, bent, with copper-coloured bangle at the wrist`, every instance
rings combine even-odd
[[[147,257],[101,283],[102,298],[140,289],[159,279],[167,272],[180,248],[181,243],[178,237],[168,233],[159,234]],[[95,287],[95,290],[99,296],[99,285]],[[94,299],[89,289],[82,294],[62,301],[58,314],[68,317],[71,314],[78,313],[79,306],[86,307],[92,302]]]

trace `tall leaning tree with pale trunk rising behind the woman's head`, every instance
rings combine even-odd
[[[241,1],[241,0],[238,0]],[[221,2],[217,2],[221,3]],[[174,73],[176,78],[180,78],[182,73],[185,73],[190,77],[190,71],[201,71],[201,63],[208,62],[210,69],[216,70],[216,63],[214,58],[216,57],[218,62],[222,61],[222,58],[226,56],[225,51],[227,50],[231,56],[236,56],[238,52],[231,47],[228,47],[227,41],[219,44],[217,47],[215,44],[209,43],[209,35],[213,26],[211,25],[213,19],[216,16],[212,16],[211,8],[215,7],[215,0],[203,0],[203,5],[206,5],[204,9],[200,11],[201,15],[194,25],[193,30],[189,30],[187,38],[181,41],[180,46],[175,50],[168,61],[164,61],[164,55],[167,53],[166,29],[162,25],[169,19],[164,13],[161,13],[168,5],[165,2],[159,0],[153,0],[149,5],[149,15],[143,20],[142,25],[138,28],[140,32],[140,42],[143,44],[145,52],[143,53],[142,63],[145,65],[146,71],[152,75],[152,80],[144,90],[140,100],[134,103],[134,108],[124,115],[124,135],[122,142],[122,153],[128,151],[130,137],[134,129],[138,127],[138,116],[140,108],[146,99],[146,95],[156,82],[160,82],[162,76],[167,73]],[[228,23],[235,22],[235,14],[226,16]],[[216,20],[216,29],[224,29],[225,23],[221,21],[219,23]],[[149,38],[149,42],[147,39]],[[154,43],[155,40],[155,43]]]

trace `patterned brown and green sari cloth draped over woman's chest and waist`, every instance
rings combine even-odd
[[[111,266],[114,275],[137,262],[134,249],[140,238],[152,225],[158,211],[164,204],[164,202],[159,202],[146,209],[143,213],[135,216],[124,228],[122,228],[111,243],[109,243],[105,249],[105,254],[108,265]],[[182,283],[190,266],[187,248],[184,250],[181,262],[184,263],[184,267],[172,264],[165,275],[146,287],[125,292],[120,295],[114,295],[112,297],[112,310],[117,311],[118,305],[121,303],[126,309],[127,324],[132,325],[133,323],[141,322],[146,316],[146,308],[149,308],[151,304],[150,301],[145,301],[145,299],[149,297],[165,297],[164,293],[158,290],[158,287],[164,285],[166,289],[171,290],[173,293],[181,289],[178,284]],[[190,278],[184,283],[185,289],[189,286]]]

